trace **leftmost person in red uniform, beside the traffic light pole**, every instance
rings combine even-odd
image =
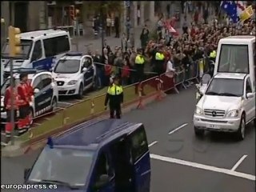
[[[12,79],[14,82],[14,78]],[[13,106],[11,103],[11,97],[13,97]],[[4,108],[6,110],[6,126],[5,126],[5,132],[6,132],[6,139],[4,142],[2,142],[2,146],[7,146],[10,143],[10,137],[11,132],[14,130],[13,122],[11,122],[11,110],[14,110],[14,124],[17,121],[17,110],[18,110],[18,93],[17,93],[17,87],[15,85],[11,86],[9,85],[5,92],[4,102],[3,102]]]

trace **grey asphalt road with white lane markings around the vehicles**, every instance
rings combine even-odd
[[[206,133],[194,137],[192,115],[195,89],[171,94],[161,102],[124,115],[143,122],[150,144],[151,192],[252,192],[255,191],[255,129],[237,142],[230,134]],[[2,158],[2,184],[21,183],[23,170],[38,150],[18,158]]]

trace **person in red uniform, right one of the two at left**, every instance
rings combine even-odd
[[[30,111],[30,88],[27,86],[28,74],[20,74],[20,84],[18,85],[19,96],[19,120],[18,120],[18,133],[24,134],[28,130],[30,124],[28,115]]]

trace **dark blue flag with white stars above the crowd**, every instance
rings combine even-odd
[[[226,14],[232,19],[234,23],[238,22],[238,11],[237,4],[234,1],[222,1],[221,8],[226,12]]]

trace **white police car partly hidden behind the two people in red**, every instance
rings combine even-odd
[[[37,71],[34,69],[18,69],[14,78],[15,84],[19,83],[19,74],[26,72],[31,85],[34,88],[34,97],[30,102],[30,114],[33,117],[45,114],[50,110],[54,110],[58,104],[58,87],[52,74],[47,71]],[[6,111],[3,108],[4,95],[6,87],[10,85],[10,77],[1,86],[1,120],[6,120]]]

